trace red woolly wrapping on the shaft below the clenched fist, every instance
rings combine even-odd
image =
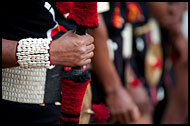
[[[70,115],[80,115],[83,97],[90,80],[83,83],[76,83],[72,80],[61,78],[61,90],[62,90],[62,106],[61,113]],[[61,114],[61,120],[64,121],[77,121],[76,117],[64,117]],[[79,117],[78,117],[79,119]]]

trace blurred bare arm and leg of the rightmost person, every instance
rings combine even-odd
[[[149,3],[152,15],[168,32],[169,41],[179,55],[174,64],[176,86],[169,92],[168,104],[161,123],[185,123],[188,116],[188,42],[181,31],[182,14],[186,4],[186,2]]]

